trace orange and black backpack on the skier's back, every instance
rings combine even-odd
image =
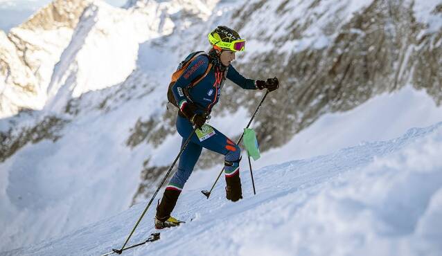
[[[175,71],[172,74],[172,80],[169,83],[169,88],[167,91],[167,99],[170,103],[172,103],[177,108],[179,108],[179,107],[178,107],[177,101],[175,100],[175,97],[173,96],[172,87],[175,84],[175,82],[177,82],[178,78],[181,77],[181,75],[184,73],[186,68],[191,64],[191,62],[193,62],[193,60],[195,60],[195,58],[200,55],[206,55],[207,57],[209,57],[209,55],[207,53],[205,53],[204,51],[197,51],[195,53],[191,53],[186,57],[186,59],[184,59],[181,63],[179,63],[177,71]],[[209,63],[209,66],[207,66],[206,71],[202,75],[200,75],[199,77],[196,77],[189,85],[189,88],[192,88],[193,86],[195,86],[195,84],[197,84],[204,77],[206,77],[207,73],[209,73],[211,68],[212,68],[212,64]],[[184,91],[184,93],[187,94],[186,91]]]

